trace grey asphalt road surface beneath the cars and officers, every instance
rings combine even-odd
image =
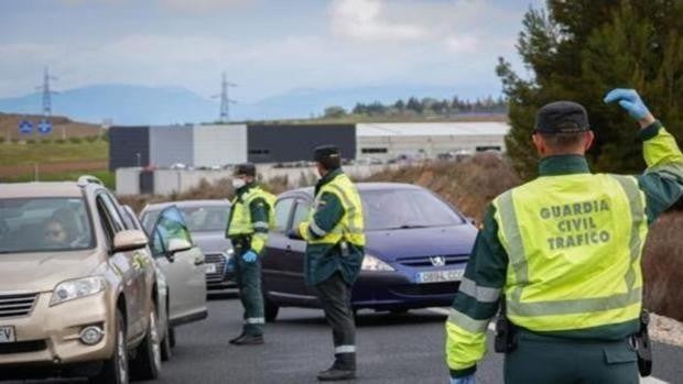
[[[267,327],[267,343],[256,347],[228,344],[240,330],[240,316],[238,300],[210,300],[207,320],[176,330],[174,356],[160,382],[317,383],[316,373],[332,363],[332,336],[321,310],[281,309],[278,321]],[[359,377],[353,383],[447,383],[444,320],[432,310],[398,316],[361,311]],[[657,344],[654,353],[654,376],[683,383],[683,349]],[[502,383],[501,367],[501,356],[489,353],[477,383]]]

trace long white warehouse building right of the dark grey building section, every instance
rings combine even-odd
[[[356,160],[436,158],[487,150],[505,152],[507,122],[356,124]]]

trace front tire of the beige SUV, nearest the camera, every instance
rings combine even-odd
[[[101,371],[94,377],[89,377],[91,384],[128,384],[130,370],[128,350],[126,349],[126,322],[121,310],[117,309],[115,321],[113,351],[111,358],[105,361]]]

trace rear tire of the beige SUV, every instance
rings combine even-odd
[[[156,306],[153,303],[149,316],[147,334],[138,347],[135,359],[131,364],[132,374],[139,380],[154,380],[159,377],[159,372],[161,372],[161,337]]]

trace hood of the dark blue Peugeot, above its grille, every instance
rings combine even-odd
[[[367,231],[366,251],[384,261],[434,255],[469,255],[477,229],[454,227]]]

